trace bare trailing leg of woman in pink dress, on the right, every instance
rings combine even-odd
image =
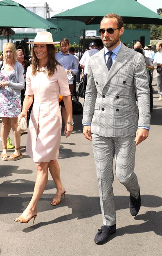
[[[52,201],[55,201],[56,199],[60,201],[61,199],[61,194],[65,191],[62,182],[61,182],[61,177],[60,177],[60,167],[58,165],[57,160],[51,160],[49,162],[48,168],[50,170],[51,176],[54,180],[54,183],[56,185],[56,196],[53,198]]]

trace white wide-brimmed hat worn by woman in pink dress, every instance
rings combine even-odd
[[[47,31],[37,32],[34,42],[27,42],[28,44],[56,44],[53,42],[52,34]]]

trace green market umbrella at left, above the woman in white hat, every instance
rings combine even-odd
[[[50,21],[11,0],[0,1],[0,28],[7,28],[7,30],[9,28],[52,28],[60,30]],[[9,33],[7,33],[7,39],[9,42]]]

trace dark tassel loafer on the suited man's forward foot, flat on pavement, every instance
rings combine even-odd
[[[104,244],[108,242],[109,236],[116,232],[116,228],[116,224],[113,226],[101,226],[94,237],[94,242],[96,244]]]

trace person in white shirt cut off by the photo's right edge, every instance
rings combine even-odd
[[[155,53],[153,65],[157,66],[157,69],[156,69],[157,91],[160,96],[159,100],[162,100],[162,42],[158,42],[156,44],[156,50],[157,50],[157,53]]]

